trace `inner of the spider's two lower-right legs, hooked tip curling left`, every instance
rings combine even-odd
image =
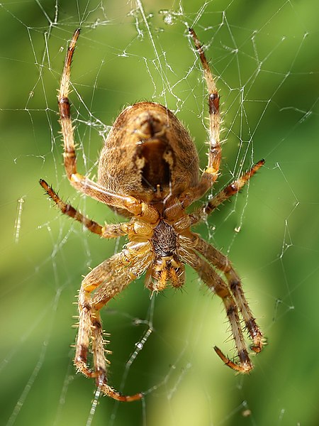
[[[240,324],[237,305],[233,295],[231,295],[230,290],[228,289],[228,286],[224,283],[223,279],[220,278],[218,273],[213,270],[211,265],[209,265],[209,263],[206,262],[203,258],[198,256],[195,251],[187,249],[185,254],[182,253],[182,256],[184,258],[184,262],[188,263],[192,268],[194,268],[207,287],[213,290],[213,292],[223,300],[225,311],[235,340],[235,346],[239,357],[239,364],[231,361],[223,354],[222,351],[220,351],[220,349],[215,346],[214,349],[216,353],[220,359],[222,359],[223,362],[230,368],[233,368],[233,370],[240,373],[248,373],[252,369],[252,364],[250,362],[250,357],[245,345],[245,339],[242,334],[242,327]]]

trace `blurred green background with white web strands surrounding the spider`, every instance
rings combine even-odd
[[[315,1],[16,1],[1,18],[1,420],[26,425],[318,424],[318,5]],[[65,178],[56,89],[75,28],[72,118],[78,167],[96,175],[102,138],[143,99],[177,114],[206,164],[207,99],[194,26],[220,90],[223,164],[213,193],[260,158],[245,190],[198,226],[233,261],[268,338],[250,376],[225,312],[187,269],[184,290],[150,300],[143,280],[107,309],[109,381],[137,403],[101,398],[72,365],[74,295],[121,250],[62,217],[38,185],[96,221],[120,218]],[[12,142],[12,143],[11,143]],[[315,183],[314,183],[315,182]]]

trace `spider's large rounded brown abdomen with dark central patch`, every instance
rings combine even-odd
[[[198,184],[198,154],[188,131],[160,104],[139,102],[114,122],[101,151],[99,184],[145,202]]]

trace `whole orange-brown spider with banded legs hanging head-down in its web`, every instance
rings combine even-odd
[[[155,102],[138,102],[118,116],[101,151],[97,183],[78,173],[68,95],[71,62],[79,32],[79,29],[74,32],[69,43],[58,92],[65,171],[77,191],[107,204],[130,220],[101,226],[63,202],[45,180],[40,180],[40,185],[61,212],[81,222],[89,231],[105,239],[128,237],[128,244],[120,253],[103,261],[82,280],[74,365],[84,376],[94,378],[96,386],[115,400],[142,398],[142,393],[122,395],[108,384],[106,356],[110,352],[104,349],[100,310],[143,273],[145,286],[152,293],[164,290],[169,283],[181,288],[185,281],[184,264],[187,264],[223,301],[238,361],[229,359],[215,346],[216,353],[233,370],[247,373],[252,363],[243,328],[247,329],[252,339],[251,349],[256,353],[264,344],[262,332],[228,258],[194,234],[191,226],[206,219],[216,207],[235,195],[264,160],[252,165],[203,207],[190,214],[186,212],[186,208],[203,197],[216,182],[221,159],[218,90],[201,43],[194,29],[189,28],[208,88],[208,165],[201,176],[198,154],[189,133],[169,109]],[[92,367],[88,364],[89,350],[93,355]]]

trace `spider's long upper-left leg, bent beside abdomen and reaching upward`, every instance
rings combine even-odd
[[[60,111],[60,124],[64,142],[63,157],[67,178],[77,190],[89,195],[89,197],[112,207],[126,209],[135,216],[147,217],[147,219],[150,219],[150,222],[153,221],[152,223],[155,223],[157,222],[158,214],[155,212],[154,208],[147,206],[144,202],[140,202],[135,197],[118,195],[114,192],[108,191],[105,187],[77,172],[77,156],[75,153],[74,131],[68,96],[72,57],[77,44],[77,39],[79,38],[79,33],[80,30],[77,29],[69,43],[67,56],[65,58],[65,66],[63,68],[60,82],[60,89],[57,95],[57,103]]]

